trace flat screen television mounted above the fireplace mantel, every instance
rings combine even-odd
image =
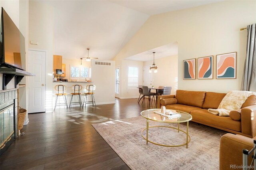
[[[10,16],[2,8],[0,37],[0,67],[13,67],[24,70],[25,38]],[[23,67],[22,67],[23,66]]]

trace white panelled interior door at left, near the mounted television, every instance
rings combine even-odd
[[[28,50],[28,113],[45,112],[45,59],[46,52]]]

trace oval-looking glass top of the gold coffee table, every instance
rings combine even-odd
[[[182,122],[188,122],[192,119],[192,116],[190,114],[182,111],[166,109],[166,111],[171,111],[172,113],[180,114],[181,116],[178,118],[164,117],[164,116],[158,115],[157,113],[154,113],[154,111],[161,111],[161,109],[148,109],[148,110],[142,111],[140,115],[152,121],[167,122],[167,123],[182,123]]]

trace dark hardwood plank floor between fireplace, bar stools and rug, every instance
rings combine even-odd
[[[145,102],[146,103],[146,102]],[[0,169],[129,169],[92,127],[94,123],[140,116],[145,109],[137,99],[116,104],[56,108],[55,113],[29,114],[16,141],[0,159]]]

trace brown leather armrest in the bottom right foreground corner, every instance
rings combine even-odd
[[[243,149],[251,150],[253,148],[253,139],[235,135],[231,133],[224,134],[220,139],[220,170],[234,169],[234,166],[243,164]],[[248,162],[252,161],[249,156]]]

